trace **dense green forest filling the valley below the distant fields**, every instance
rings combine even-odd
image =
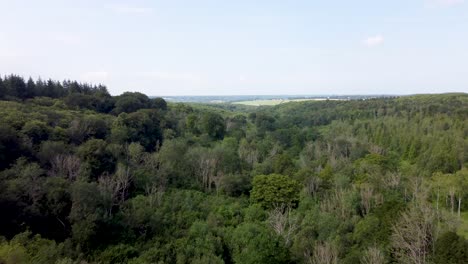
[[[0,77],[0,263],[468,263],[468,94],[170,103]]]

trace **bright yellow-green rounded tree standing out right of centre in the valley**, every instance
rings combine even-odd
[[[252,186],[250,199],[265,208],[280,204],[291,205],[299,200],[300,184],[284,175],[257,175]]]

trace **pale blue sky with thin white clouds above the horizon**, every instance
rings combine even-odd
[[[113,95],[468,92],[468,0],[0,0],[0,75]]]

